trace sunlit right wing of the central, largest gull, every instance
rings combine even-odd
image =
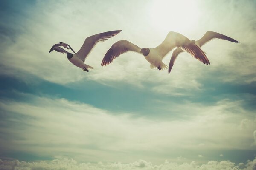
[[[190,41],[187,37],[177,32],[169,32],[162,44],[155,49],[164,57],[175,47],[182,48],[204,64],[210,64],[204,52],[195,45],[195,41]]]

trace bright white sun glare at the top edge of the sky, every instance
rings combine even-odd
[[[155,0],[150,8],[151,23],[159,31],[186,32],[198,23],[195,0]]]

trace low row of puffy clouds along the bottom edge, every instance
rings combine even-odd
[[[207,164],[196,164],[194,161],[182,164],[165,161],[164,164],[154,165],[144,160],[132,163],[79,163],[74,159],[55,159],[38,162],[4,161],[0,159],[0,170],[255,170],[255,168],[256,159],[248,161],[245,165],[241,163],[236,165],[231,161],[209,161]]]

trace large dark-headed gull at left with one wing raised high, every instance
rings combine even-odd
[[[77,53],[75,53],[72,50],[75,54],[67,52],[66,50],[59,47],[58,45],[56,45],[56,46],[53,45],[53,47],[51,48],[51,50],[49,52],[51,52],[52,50],[55,50],[55,51],[58,51],[58,52],[61,52],[61,53],[66,53],[67,54],[67,59],[73,65],[76,65],[77,67],[80,67],[84,71],[88,72],[89,69],[93,69],[93,67],[91,67],[90,65],[84,64],[84,61],[85,61],[86,57],[88,56],[88,54],[90,54],[90,51],[93,49],[93,47],[96,45],[96,43],[97,42],[104,42],[105,40],[108,40],[109,38],[115,36],[116,34],[118,34],[121,31],[122,30],[108,31],[108,32],[103,32],[103,33],[99,33],[99,34],[95,34],[95,35],[92,35],[90,37],[87,37],[84,40],[84,44],[82,45],[82,47],[80,48],[80,50]],[[63,45],[61,45],[61,46],[63,46]],[[70,47],[70,45],[67,45],[67,46]],[[70,47],[70,49],[72,49],[72,48]]]

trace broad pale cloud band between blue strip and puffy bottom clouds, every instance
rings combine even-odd
[[[4,118],[0,134],[5,136],[0,136],[0,149],[4,153],[12,150],[38,156],[68,155],[79,161],[124,161],[125,155],[134,161],[143,155],[160,161],[169,150],[173,158],[180,156],[180,150],[187,158],[189,150],[253,149],[251,131],[256,126],[241,131],[239,120],[241,115],[254,113],[243,111],[239,102],[176,105],[185,108],[191,117],[160,120],[140,117],[139,113],[110,112],[67,99],[30,96],[30,101],[0,101]],[[241,114],[236,114],[238,111]],[[204,147],[198,145],[201,142]]]

